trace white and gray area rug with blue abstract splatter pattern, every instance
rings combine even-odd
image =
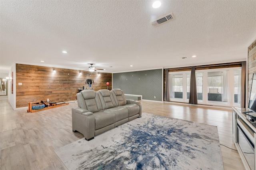
[[[149,113],[55,152],[70,170],[223,170],[216,126]]]

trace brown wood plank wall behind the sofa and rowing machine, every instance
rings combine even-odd
[[[53,72],[56,70],[56,73]],[[71,70],[46,66],[16,64],[16,107],[26,107],[28,102],[68,102],[76,100],[78,87],[86,88],[86,79],[93,79],[93,90],[112,89],[112,73]],[[21,86],[18,83],[22,83]]]

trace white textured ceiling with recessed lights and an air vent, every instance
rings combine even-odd
[[[122,72],[246,59],[256,0],[161,2],[1,0],[0,71],[13,63]],[[175,20],[151,25],[171,12]]]

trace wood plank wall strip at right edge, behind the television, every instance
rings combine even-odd
[[[256,72],[256,40],[248,47],[248,102],[252,88],[252,75]]]

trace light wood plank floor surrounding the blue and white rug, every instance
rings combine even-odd
[[[230,110],[141,103],[143,112],[217,126],[224,169],[244,170],[238,152],[233,150],[236,147],[232,143]],[[54,150],[83,138],[82,134],[72,132],[72,107],[77,107],[77,103],[27,113],[27,109],[13,110],[6,100],[0,100],[1,170],[66,170]]]

